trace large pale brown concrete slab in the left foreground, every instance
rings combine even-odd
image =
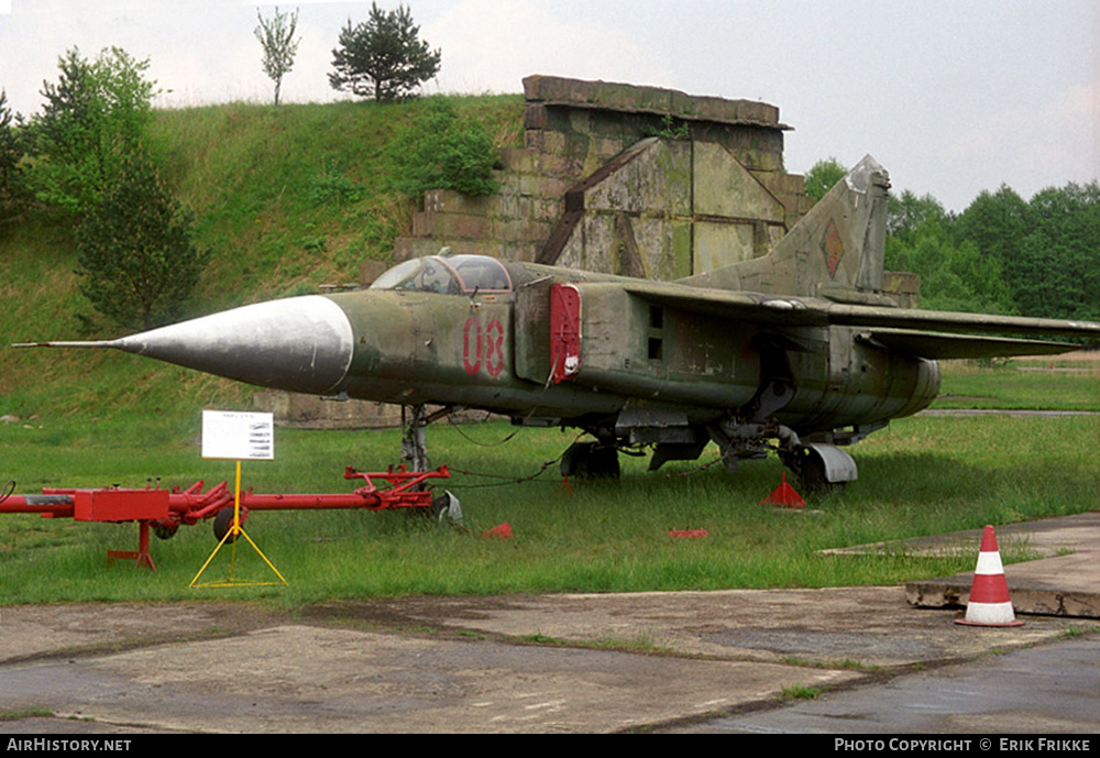
[[[158,732],[608,732],[858,672],[286,625],[9,667],[0,711]]]

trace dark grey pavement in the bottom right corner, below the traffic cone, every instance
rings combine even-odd
[[[778,708],[656,732],[829,734],[856,738],[871,734],[922,735],[911,739],[894,737],[892,744],[883,741],[891,751],[923,754],[989,752],[991,748],[1014,752],[1055,749],[1058,745],[1089,750],[1096,745],[1098,682],[1096,640],[1065,640],[987,656],[967,664],[914,671],[880,685],[827,692]],[[1060,735],[1093,736],[1066,739]],[[833,747],[832,739],[825,744]]]

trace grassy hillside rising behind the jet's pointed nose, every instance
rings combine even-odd
[[[498,146],[521,141],[520,96],[454,102]],[[354,282],[361,261],[388,261],[414,208],[385,190],[385,150],[425,108],[421,100],[158,112],[153,150],[195,213],[197,244],[212,253],[190,316]],[[75,266],[70,218],[32,209],[0,224],[0,415],[191,415],[246,403],[251,391],[234,383],[121,353],[8,348],[118,336],[94,318]]]

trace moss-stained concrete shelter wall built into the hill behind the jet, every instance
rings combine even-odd
[[[675,278],[765,254],[810,207],[774,106],[544,76],[524,91],[499,191],[428,193],[398,260],[449,245]]]

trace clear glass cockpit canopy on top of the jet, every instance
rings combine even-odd
[[[432,255],[399,263],[376,278],[371,289],[407,289],[461,295],[512,292],[508,270],[487,255]]]

